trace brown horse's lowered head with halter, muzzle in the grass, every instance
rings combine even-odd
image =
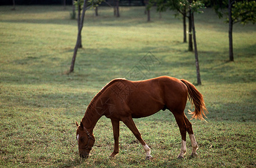
[[[77,122],[75,122],[75,124],[77,125],[77,142],[79,156],[82,158],[88,158],[89,152],[92,150],[93,144],[95,142],[95,138],[93,134],[89,134],[82,122],[80,123],[80,125],[78,125]]]

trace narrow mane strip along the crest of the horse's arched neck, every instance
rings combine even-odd
[[[93,99],[91,100],[91,102],[89,103],[87,110],[86,110],[86,114],[89,116],[89,119],[92,119],[92,114],[89,112],[92,112],[93,109],[95,109],[94,104],[96,102],[96,100],[98,99],[98,97],[100,97],[107,88],[109,88],[111,85],[113,85],[113,83],[118,82],[118,81],[123,81],[125,80],[125,78],[116,78],[112,81],[110,81],[109,83],[107,83],[104,87],[102,87],[102,89],[93,97]],[[86,114],[84,116],[86,116]]]

